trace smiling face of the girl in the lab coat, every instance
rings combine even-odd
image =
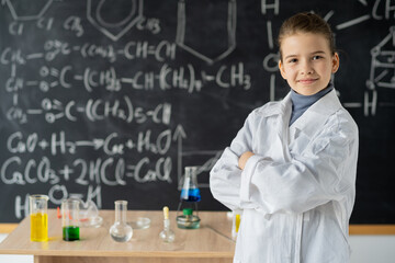
[[[330,52],[321,34],[296,33],[283,38],[281,76],[302,95],[313,95],[325,89],[331,73],[339,68],[339,56]]]

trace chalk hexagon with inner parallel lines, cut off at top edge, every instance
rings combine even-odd
[[[143,18],[143,0],[88,0],[87,18],[94,27],[116,42]]]

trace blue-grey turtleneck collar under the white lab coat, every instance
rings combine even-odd
[[[324,95],[328,94],[334,89],[331,83],[328,84],[324,90],[313,95],[302,95],[291,89],[291,101],[292,101],[292,114],[290,119],[290,126],[300,117],[302,114],[316,101]]]

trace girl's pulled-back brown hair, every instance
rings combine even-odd
[[[336,53],[335,37],[329,24],[318,14],[297,13],[283,22],[280,27],[278,44],[280,48],[280,59],[282,60],[281,43],[284,37],[296,33],[321,34],[327,38],[330,53]]]

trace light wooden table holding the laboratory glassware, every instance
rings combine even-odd
[[[127,219],[150,218],[148,229],[134,229],[133,238],[125,243],[111,239],[109,229],[114,222],[113,210],[100,210],[103,224],[99,228],[81,228],[80,241],[61,239],[61,220],[56,210],[48,211],[48,242],[30,241],[30,220],[21,221],[3,242],[0,254],[33,254],[34,263],[198,263],[232,262],[235,241],[232,240],[232,219],[225,211],[200,211],[200,229],[179,229],[176,211],[170,211],[173,243],[163,243],[159,232],[163,229],[162,211],[128,210]]]

